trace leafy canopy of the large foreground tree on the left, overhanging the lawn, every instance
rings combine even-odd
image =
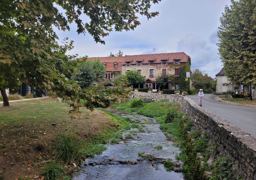
[[[74,112],[79,100],[86,99],[85,105],[93,109],[91,101],[102,103],[106,98],[116,99],[110,91],[81,90],[66,77],[74,73],[75,56],[66,52],[73,48],[73,41],[57,43],[58,36],[53,26],[70,30],[69,23],[77,24],[77,33],[92,35],[97,42],[105,44],[103,37],[115,31],[133,30],[140,22],[136,13],[148,19],[158,15],[149,12],[151,3],[161,0],[1,0],[0,1],[0,89],[17,92],[17,82],[29,82],[31,87],[46,89],[49,95],[70,99]],[[59,5],[65,15],[55,7]],[[86,14],[90,22],[83,22],[80,15]],[[82,60],[81,60],[82,61]],[[12,78],[7,74],[15,72]],[[122,86],[120,86],[122,87]],[[115,92],[116,91],[116,92]],[[93,93],[92,93],[93,92]],[[113,93],[124,94],[121,89]],[[8,100],[8,99],[7,99]]]

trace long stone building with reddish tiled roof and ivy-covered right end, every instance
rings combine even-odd
[[[88,59],[94,60],[95,57]],[[96,59],[100,59],[106,67],[105,79],[114,78],[116,73],[125,74],[126,71],[133,70],[146,77],[144,88],[158,89],[155,83],[156,78],[162,74],[170,74],[173,75],[173,79],[166,84],[165,89],[180,89],[180,87],[190,89],[190,78],[186,79],[186,72],[190,73],[191,61],[184,52],[97,57]]]

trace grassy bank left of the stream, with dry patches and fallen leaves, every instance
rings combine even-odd
[[[55,100],[11,102],[10,107],[0,107],[1,180],[69,180],[83,159],[106,149],[100,144],[129,128],[127,120],[99,110],[81,109],[79,119],[71,119],[70,107]]]

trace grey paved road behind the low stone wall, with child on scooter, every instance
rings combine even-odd
[[[256,107],[226,104],[214,99],[215,95],[205,94],[202,100],[203,108],[228,120],[256,137]],[[198,103],[198,95],[189,95],[188,98]]]

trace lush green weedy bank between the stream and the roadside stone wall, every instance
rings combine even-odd
[[[137,101],[137,100],[135,100]],[[133,102],[114,105],[117,109],[134,114],[141,114],[155,118],[160,123],[160,129],[166,135],[171,134],[176,145],[181,149],[181,153],[176,156],[177,160],[183,162],[183,172],[185,179],[217,180],[217,179],[238,179],[232,170],[232,163],[228,157],[220,157],[208,164],[211,154],[217,145],[208,140],[208,135],[198,127],[193,126],[186,115],[179,112],[178,104],[171,104],[169,100],[143,103],[141,107],[131,108]],[[138,103],[136,103],[138,104]],[[166,166],[171,164],[171,166]],[[174,168],[170,162],[164,163],[168,171]],[[209,172],[210,173],[205,173]]]

